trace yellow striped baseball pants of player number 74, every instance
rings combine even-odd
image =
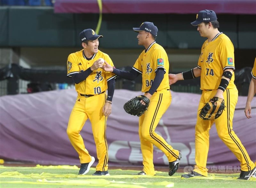
[[[209,130],[214,121],[203,120],[199,117],[200,109],[205,103],[209,102],[210,98],[214,97],[216,90],[203,91],[198,106],[197,122],[196,122],[196,165],[194,171],[207,176],[208,169],[206,168],[207,155],[209,151]],[[225,110],[221,116],[215,120],[218,136],[225,145],[233,152],[241,163],[241,170],[250,171],[255,165],[251,161],[246,149],[241,143],[240,139],[233,131],[233,117],[235,112],[236,103],[238,100],[238,91],[236,88],[225,90],[224,94]]]

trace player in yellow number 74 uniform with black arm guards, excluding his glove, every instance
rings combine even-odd
[[[235,154],[241,163],[239,179],[248,180],[255,173],[256,168],[246,149],[232,128],[232,120],[238,100],[238,91],[234,84],[235,70],[234,46],[227,35],[218,30],[219,22],[212,10],[203,10],[196,15],[196,21],[191,23],[197,26],[202,37],[208,38],[202,46],[198,65],[187,72],[169,74],[170,84],[178,80],[193,79],[201,76],[202,95],[198,106],[195,138],[196,165],[189,174],[181,177],[207,176],[207,155],[209,150],[209,130],[214,121],[203,120],[199,117],[200,110],[212,97],[225,100],[225,111],[215,120],[217,133],[220,139]]]

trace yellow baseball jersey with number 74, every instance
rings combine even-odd
[[[217,90],[224,70],[235,70],[234,46],[227,35],[219,33],[211,42],[206,40],[197,67],[201,70],[201,90]],[[235,88],[235,74],[227,89]]]

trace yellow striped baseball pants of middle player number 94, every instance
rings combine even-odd
[[[155,132],[159,120],[170,106],[171,101],[170,90],[155,92],[150,98],[148,110],[139,118],[143,170],[147,175],[156,174],[153,164],[153,145],[158,147],[167,156],[169,162],[175,161],[179,157],[179,151],[174,150],[163,137]]]

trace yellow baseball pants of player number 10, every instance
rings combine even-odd
[[[96,171],[108,170],[108,143],[106,137],[107,117],[103,115],[103,106],[106,101],[106,93],[85,98],[76,98],[75,106],[70,114],[68,121],[68,138],[79,155],[80,163],[87,163],[92,160],[89,152],[85,149],[84,140],[80,131],[84,127],[87,119],[92,124],[92,133],[96,145],[97,158],[99,163]]]

